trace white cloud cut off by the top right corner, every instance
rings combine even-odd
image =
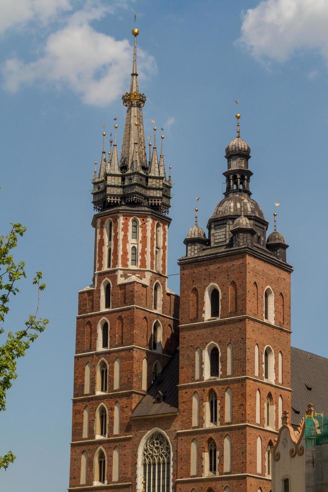
[[[255,58],[284,62],[314,49],[328,62],[327,0],[262,0],[244,17],[239,42]]]

